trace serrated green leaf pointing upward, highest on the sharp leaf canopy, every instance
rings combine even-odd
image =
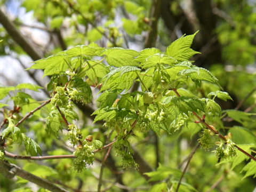
[[[174,41],[169,47],[167,47],[165,54],[173,57],[178,61],[186,61],[194,54],[200,53],[190,49],[190,46],[193,43],[193,39],[197,33],[198,31],[196,31],[196,33],[193,35],[183,35]]]

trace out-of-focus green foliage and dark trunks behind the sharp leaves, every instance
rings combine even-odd
[[[218,101],[222,110],[239,109],[255,113],[256,99],[256,1],[255,0],[2,0],[1,11],[14,24],[28,45],[15,40],[15,34],[5,30],[0,18],[0,85],[14,86],[32,82],[45,87],[49,79],[42,79],[42,71],[25,71],[31,61],[47,57],[70,47],[95,42],[103,47],[124,47],[140,51],[147,47],[165,50],[171,42],[183,34],[194,34],[193,49],[201,52],[191,60],[194,64],[209,69],[218,79],[223,90],[234,101]],[[7,23],[8,24],[8,23]],[[10,26],[10,23],[8,24]],[[209,84],[203,84],[202,95]],[[195,90],[194,90],[195,91]],[[34,99],[45,100],[49,95],[33,93]],[[246,96],[247,95],[247,96]],[[205,96],[204,96],[205,97]],[[243,102],[244,100],[244,102]],[[239,105],[241,103],[242,105]],[[101,124],[93,125],[91,106],[78,106],[84,135],[106,139]],[[33,109],[33,107],[31,106]],[[29,109],[28,109],[29,111]],[[40,143],[43,154],[67,154],[62,139],[49,137],[42,127],[29,119],[31,135]],[[234,121],[223,118],[222,132],[250,131],[245,138],[234,138],[238,143],[245,140],[255,143],[255,119]],[[229,127],[237,125],[237,129]],[[123,170],[121,159],[112,150],[103,175],[106,191],[161,191],[170,182],[179,181],[185,161],[197,144],[201,125],[183,127],[173,135],[161,133],[157,138],[152,132],[131,138],[134,158],[140,165],[137,170]],[[243,134],[245,135],[245,134]],[[235,142],[236,142],[235,141]],[[249,141],[247,142],[249,143]],[[212,149],[213,150],[213,149]],[[13,149],[15,151],[15,149]],[[19,154],[25,152],[18,151]],[[100,158],[100,153],[96,155]],[[231,169],[228,163],[217,164],[214,153],[197,149],[185,174],[186,185],[180,191],[253,191],[256,180],[243,178],[240,173],[245,164]],[[100,161],[100,160],[99,160]],[[71,170],[70,159],[39,162],[15,161],[23,169],[48,178],[71,191],[95,191],[99,177],[99,164],[82,173]],[[158,167],[158,168],[157,168]],[[151,172],[156,170],[155,172]],[[145,174],[151,172],[150,174]],[[150,176],[150,180],[149,177]],[[156,184],[159,181],[158,184]],[[151,185],[156,184],[153,188]],[[24,187],[27,186],[27,187]],[[30,188],[31,187],[31,188]],[[19,188],[13,190],[15,188]],[[46,191],[38,189],[26,180],[10,180],[0,174],[1,191]]]

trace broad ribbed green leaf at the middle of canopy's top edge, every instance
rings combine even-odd
[[[139,52],[134,50],[113,47],[102,52],[102,55],[107,56],[106,60],[110,66],[139,66],[139,63],[134,60],[139,55]]]

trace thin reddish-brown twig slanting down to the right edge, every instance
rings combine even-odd
[[[178,93],[177,89],[173,88],[172,89],[178,97],[181,97],[180,94]],[[213,133],[217,134],[219,136],[219,138],[221,138],[224,141],[227,141],[227,139],[225,138],[225,136],[223,136],[222,134],[219,133],[219,131],[217,129],[215,129],[213,126],[207,124],[204,119],[202,119],[201,117],[199,117],[195,111],[192,112],[196,118],[199,120],[200,123],[204,124],[210,131],[212,131]],[[241,151],[243,154],[245,154],[246,156],[250,157],[251,159],[253,159],[254,161],[256,161],[256,158],[254,156],[252,156],[251,154],[247,153],[245,150],[243,150],[242,148],[238,147],[237,145],[235,145],[235,147]]]

